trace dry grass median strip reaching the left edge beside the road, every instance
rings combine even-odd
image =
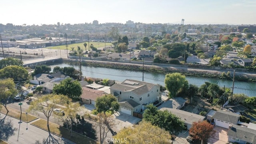
[[[8,108],[9,112],[8,112],[8,116],[12,116],[14,118],[20,119],[20,111],[18,110],[14,110],[12,108]],[[2,107],[1,112],[6,114],[6,109],[4,107]],[[28,115],[28,119],[27,119],[27,115]],[[30,114],[23,113],[21,114],[21,120],[24,122],[31,122],[32,120],[36,120],[37,117],[35,116],[31,116]]]

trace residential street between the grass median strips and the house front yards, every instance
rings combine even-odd
[[[7,106],[9,108],[13,108],[13,109],[16,109],[16,110],[20,111],[20,106],[18,105],[19,103],[20,103],[19,100],[14,100],[12,103],[8,104]],[[22,112],[26,112],[28,107],[29,107],[29,105],[26,104],[26,101],[22,100],[22,105],[21,105]],[[44,114],[42,112],[36,112],[36,113],[30,112],[28,114],[31,114],[31,115],[34,115],[34,116],[40,118],[40,119],[46,120],[46,116],[44,116]],[[54,114],[52,116],[50,116],[49,121],[53,122],[55,124],[59,124],[61,126],[63,125],[63,123],[58,118],[54,117]],[[86,126],[88,128],[91,128],[91,129],[87,128],[85,133],[88,134],[88,137],[91,137],[93,139],[96,138],[97,141],[100,141],[100,126],[99,126],[99,123],[94,122],[94,121],[90,121],[90,120],[87,120],[87,119],[85,119],[85,121],[86,121]],[[107,142],[106,142],[107,138],[112,138],[112,133],[110,131],[107,133],[104,144],[107,144]]]

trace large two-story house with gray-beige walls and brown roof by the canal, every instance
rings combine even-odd
[[[142,112],[146,105],[159,100],[160,85],[126,79],[111,86],[110,93],[118,99],[120,112],[133,116],[133,112]]]

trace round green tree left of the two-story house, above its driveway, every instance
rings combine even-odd
[[[104,112],[106,115],[106,111],[110,111],[112,114],[119,109],[119,103],[116,100],[116,97],[112,94],[107,94],[102,97],[98,97],[96,99],[95,107],[97,112]]]

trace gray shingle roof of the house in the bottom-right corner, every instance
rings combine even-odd
[[[228,136],[232,136],[252,144],[256,143],[256,130],[246,128],[245,126],[233,124],[232,128],[228,130]]]

